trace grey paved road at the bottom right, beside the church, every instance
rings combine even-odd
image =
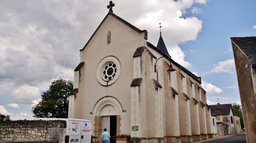
[[[206,143],[246,143],[246,137],[245,134],[240,134],[230,137],[219,138],[216,140],[208,141]]]

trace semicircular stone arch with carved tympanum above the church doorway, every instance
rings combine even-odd
[[[110,116],[125,114],[125,111],[123,111],[122,105],[116,98],[105,96],[97,101],[92,113],[94,116]]]

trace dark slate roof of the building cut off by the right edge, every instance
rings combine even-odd
[[[243,51],[252,66],[256,66],[256,37],[231,37],[231,40]]]

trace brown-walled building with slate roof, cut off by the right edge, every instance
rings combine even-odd
[[[256,37],[231,37],[248,143],[256,142]]]

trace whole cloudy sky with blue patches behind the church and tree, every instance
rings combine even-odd
[[[230,37],[256,35],[253,0],[113,0],[113,12],[157,45],[159,23],[172,58],[202,77],[209,105],[239,103]],[[54,79],[73,80],[82,49],[109,0],[0,0],[0,113],[33,119]],[[218,98],[218,99],[217,99]]]

